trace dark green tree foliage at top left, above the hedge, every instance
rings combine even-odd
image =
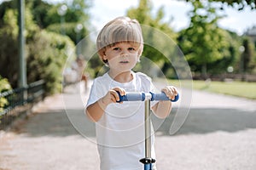
[[[40,6],[38,6],[40,4]],[[61,5],[67,5],[66,14],[61,16],[58,14]],[[73,0],[66,3],[57,3],[56,5],[49,5],[42,0],[32,1],[32,14],[34,20],[37,21],[41,28],[48,31],[54,31],[58,34],[65,34],[72,39],[74,43],[79,42],[83,37],[88,34],[88,20],[89,14],[87,9],[90,3],[84,0]],[[77,26],[83,26],[81,30]]]

